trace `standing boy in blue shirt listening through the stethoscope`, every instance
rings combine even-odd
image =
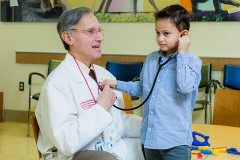
[[[119,91],[146,99],[141,141],[146,160],[190,160],[192,111],[201,80],[202,61],[188,52],[190,16],[180,5],[171,5],[155,13],[156,41],[160,49],[150,53],[144,63],[140,81],[104,80]]]

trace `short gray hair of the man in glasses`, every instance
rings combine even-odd
[[[70,10],[65,10],[59,17],[57,23],[57,31],[60,39],[63,42],[64,48],[68,51],[69,45],[62,39],[62,32],[70,31],[71,26],[76,25],[82,16],[86,13],[92,13],[92,10],[87,7],[79,7]]]

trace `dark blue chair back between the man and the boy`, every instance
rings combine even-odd
[[[135,77],[139,77],[142,67],[143,62],[107,61],[106,64],[106,69],[121,81],[132,81]]]

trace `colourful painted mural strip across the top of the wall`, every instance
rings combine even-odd
[[[239,21],[240,0],[0,0],[2,22],[54,22],[66,9],[86,6],[100,22],[154,22],[171,4],[184,6],[192,21]]]

